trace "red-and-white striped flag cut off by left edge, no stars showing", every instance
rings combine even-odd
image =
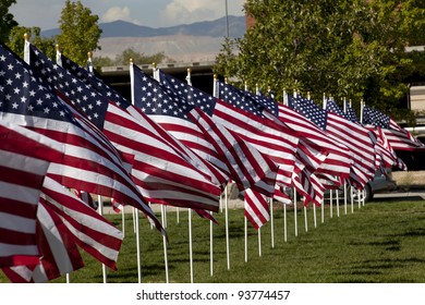
[[[42,144],[45,136],[2,120],[0,138],[0,267],[34,264],[40,256],[38,199],[50,160],[60,152]]]

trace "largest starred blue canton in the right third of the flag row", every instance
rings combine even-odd
[[[313,100],[302,96],[296,98],[288,96],[288,106],[315,123],[320,130],[326,130],[327,111],[319,108]]]

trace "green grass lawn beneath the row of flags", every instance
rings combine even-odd
[[[307,210],[307,231],[303,209],[298,209],[298,236],[294,212],[288,208],[288,241],[283,234],[282,206],[274,210],[275,247],[270,222],[258,233],[248,224],[248,260],[245,263],[243,210],[229,210],[230,269],[227,264],[224,212],[216,215],[214,225],[214,274],[210,276],[209,221],[193,216],[193,260],[195,283],[422,283],[425,282],[425,202],[372,202],[348,213],[336,206],[330,217],[325,208],[321,223],[317,208]],[[170,282],[191,282],[187,211],[168,212],[168,264]],[[120,229],[121,216],[108,216]],[[125,237],[118,259],[118,271],[107,271],[108,282],[137,282],[136,241],[132,215],[125,218]],[[141,220],[142,281],[165,282],[162,236]],[[70,276],[71,282],[102,282],[101,265],[84,255],[86,267]],[[0,282],[8,282],[0,274]],[[65,282],[65,278],[52,282]]]

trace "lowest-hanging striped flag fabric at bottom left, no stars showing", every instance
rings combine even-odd
[[[37,211],[37,264],[3,269],[12,282],[47,282],[84,267],[77,246],[116,270],[122,233],[59,183],[46,178]]]

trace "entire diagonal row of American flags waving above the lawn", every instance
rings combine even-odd
[[[0,268],[13,282],[82,268],[78,248],[116,268],[122,233],[89,194],[133,206],[167,235],[149,204],[215,221],[232,182],[258,229],[268,198],[289,204],[293,187],[321,205],[325,190],[362,190],[380,167],[405,169],[396,149],[424,148],[366,106],[361,121],[332,100],[280,103],[218,80],[209,95],[135,64],[129,101],[60,52],[53,62],[26,41],[24,53],[0,45]]]

